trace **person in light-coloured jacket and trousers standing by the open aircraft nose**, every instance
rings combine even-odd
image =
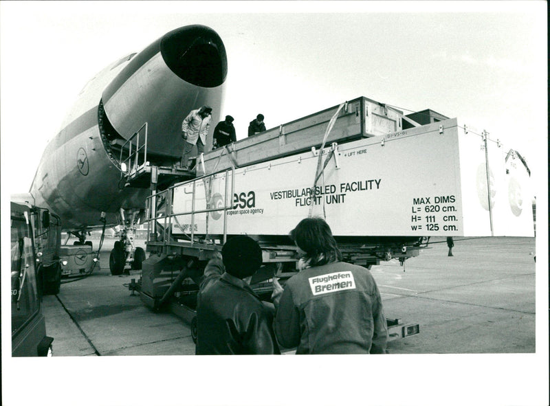
[[[181,168],[190,170],[189,157],[204,152],[206,136],[212,121],[212,107],[202,106],[192,110],[181,122],[181,137],[184,139],[184,153],[181,156]]]

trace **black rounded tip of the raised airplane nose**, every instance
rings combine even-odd
[[[190,25],[162,37],[160,51],[179,78],[200,87],[217,87],[228,74],[227,55],[219,35],[204,25]]]

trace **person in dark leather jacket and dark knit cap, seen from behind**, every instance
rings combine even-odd
[[[221,256],[208,262],[200,285],[196,353],[280,354],[273,313],[249,285],[262,264],[260,246],[248,236],[235,236]]]

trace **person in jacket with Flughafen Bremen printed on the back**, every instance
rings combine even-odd
[[[275,335],[296,354],[384,354],[388,329],[371,272],[341,262],[329,225],[305,218],[290,232],[301,256],[285,288],[274,279]]]

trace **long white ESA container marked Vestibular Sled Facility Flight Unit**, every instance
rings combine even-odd
[[[458,123],[325,148],[323,165],[333,154],[315,196],[315,148],[181,183],[173,189],[173,214],[181,215],[171,233],[191,234],[193,227],[193,234],[210,236],[286,236],[315,215],[335,236],[533,236],[525,166],[507,162],[500,145]]]

